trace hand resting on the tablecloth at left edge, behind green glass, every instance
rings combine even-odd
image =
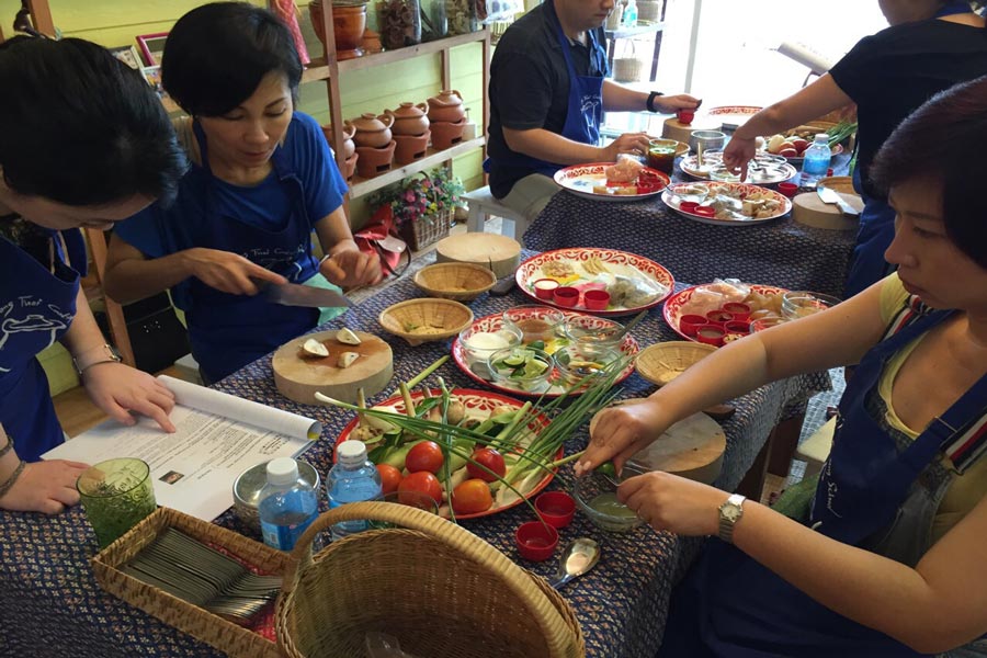
[[[12,512],[57,514],[79,502],[76,480],[88,467],[88,464],[65,460],[27,464],[10,491],[0,498],[0,508]]]

